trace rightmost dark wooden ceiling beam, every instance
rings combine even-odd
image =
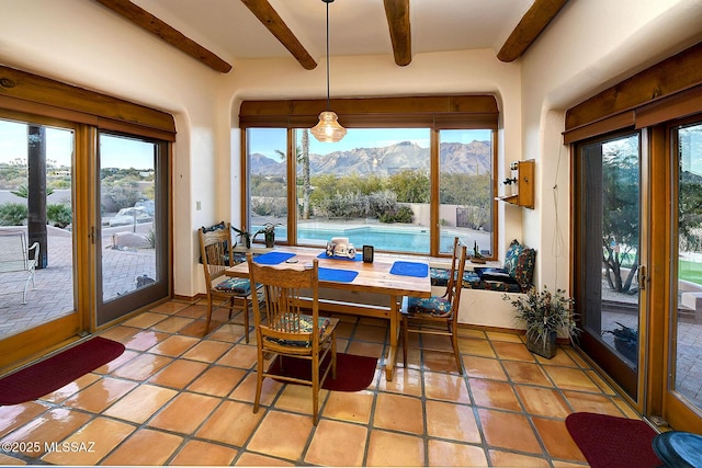
[[[535,0],[497,54],[501,61],[517,60],[558,14],[568,0]]]

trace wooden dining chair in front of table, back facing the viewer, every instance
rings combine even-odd
[[[257,385],[253,412],[258,412],[263,378],[312,386],[313,423],[317,425],[319,389],[331,370],[337,378],[336,328],[339,319],[319,317],[319,266],[314,259],[312,267],[301,265],[261,265],[247,253],[249,281],[263,287],[263,309],[253,303],[253,320],[258,347]],[[303,313],[309,311],[310,313]],[[279,359],[280,374],[273,366],[264,369],[264,356]],[[327,359],[327,357],[329,358]],[[310,378],[285,375],[285,361],[309,362]]]

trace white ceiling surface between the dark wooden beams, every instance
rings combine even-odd
[[[132,0],[226,61],[292,55],[239,0]],[[411,53],[500,49],[534,0],[410,0]],[[326,55],[321,0],[270,0],[309,54]],[[329,4],[331,56],[393,56],[383,0]],[[392,59],[392,58],[390,58]]]

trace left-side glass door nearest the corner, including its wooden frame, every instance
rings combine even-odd
[[[100,132],[98,326],[169,294],[168,146]]]

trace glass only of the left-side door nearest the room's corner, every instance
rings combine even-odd
[[[156,151],[150,141],[100,134],[103,303],[161,279],[154,222]]]

